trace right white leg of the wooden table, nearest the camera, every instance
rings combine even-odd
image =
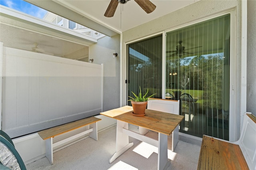
[[[158,170],[166,170],[170,166],[168,161],[168,138],[166,134],[158,133]]]

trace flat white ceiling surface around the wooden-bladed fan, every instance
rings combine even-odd
[[[96,22],[104,26],[114,28],[119,32],[124,32],[150,20],[184,8],[198,0],[150,1],[156,5],[156,9],[150,14],[147,14],[134,0],[130,0],[126,4],[118,4],[116,12],[111,18],[104,16],[110,0],[58,0],[58,4],[96,20]]]

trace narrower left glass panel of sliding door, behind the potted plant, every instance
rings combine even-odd
[[[128,96],[138,94],[141,87],[142,94],[148,89],[148,95],[162,98],[162,34],[128,45],[127,83]]]

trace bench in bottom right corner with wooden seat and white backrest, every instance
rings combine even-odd
[[[236,142],[204,135],[197,169],[256,170],[256,117],[244,114]]]

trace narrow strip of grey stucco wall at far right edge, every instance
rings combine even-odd
[[[247,110],[256,115],[256,0],[247,1]]]

